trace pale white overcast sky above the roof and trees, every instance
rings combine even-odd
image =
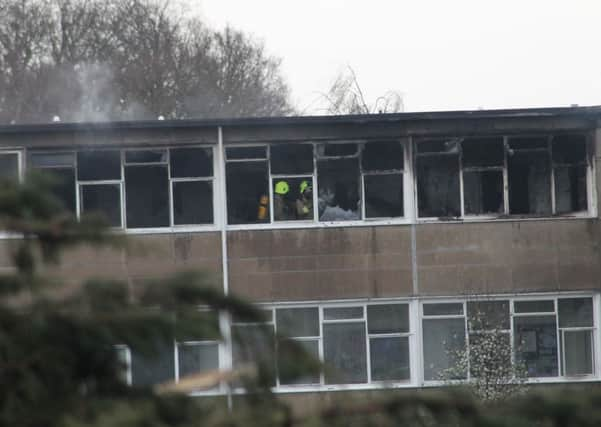
[[[193,0],[192,12],[264,42],[304,114],[349,66],[368,101],[397,91],[405,111],[601,105],[598,0]]]

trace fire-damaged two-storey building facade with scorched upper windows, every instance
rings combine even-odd
[[[54,274],[208,272],[328,367],[276,392],[437,385],[487,328],[530,382],[601,379],[601,107],[11,125],[0,142],[3,175],[51,170],[72,212],[152,248],[78,248]],[[222,317],[225,336],[257,326]],[[122,354],[133,385],[249,357],[203,339]]]

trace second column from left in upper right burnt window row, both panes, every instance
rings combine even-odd
[[[503,213],[503,138],[465,138],[461,148],[465,215]]]

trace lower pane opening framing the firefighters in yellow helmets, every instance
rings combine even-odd
[[[273,179],[273,219],[296,221],[313,219],[313,178]]]

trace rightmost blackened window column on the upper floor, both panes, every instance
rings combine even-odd
[[[587,155],[584,135],[560,135],[553,138],[553,177],[555,212],[582,212],[588,208]]]

